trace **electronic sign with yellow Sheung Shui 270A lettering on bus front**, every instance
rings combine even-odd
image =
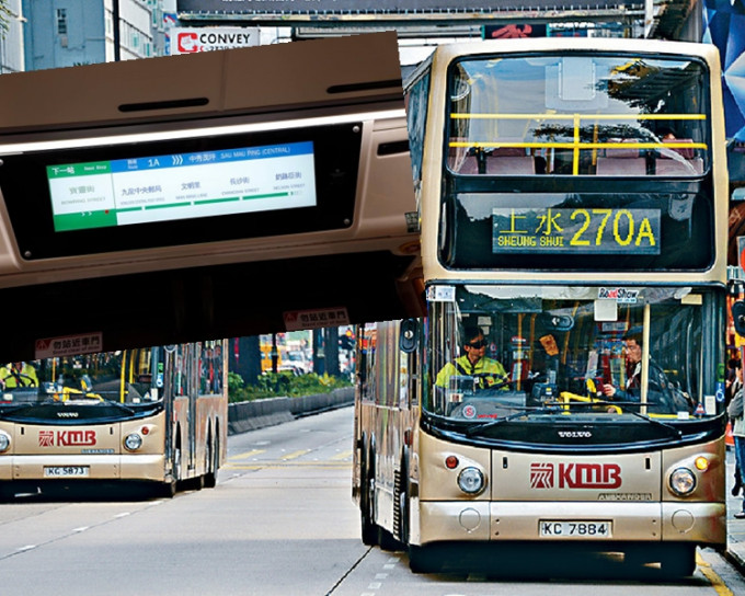
[[[492,251],[660,254],[660,209],[492,209]]]

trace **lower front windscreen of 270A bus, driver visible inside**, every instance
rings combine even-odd
[[[449,291],[429,294],[433,383],[425,408],[435,414],[477,421],[538,410],[694,413],[701,308],[679,290],[634,290],[622,299],[593,287]],[[474,328],[483,337],[480,351],[466,336]],[[632,354],[627,337],[637,332]]]

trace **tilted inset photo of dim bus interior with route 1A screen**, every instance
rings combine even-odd
[[[397,35],[4,76],[0,228],[0,360],[421,316]]]

